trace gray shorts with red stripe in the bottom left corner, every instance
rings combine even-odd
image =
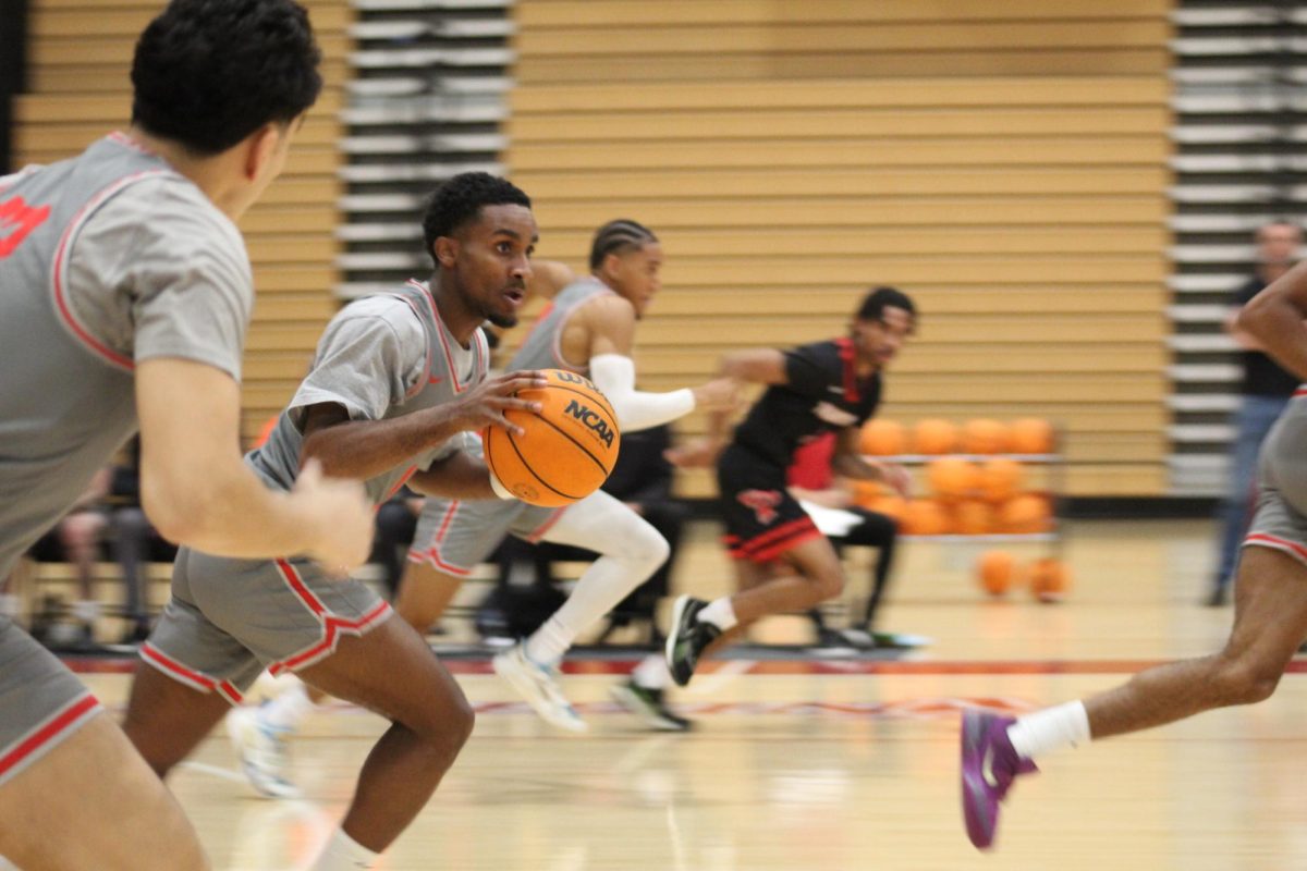
[[[72,671],[0,616],[0,786],[99,712]]]

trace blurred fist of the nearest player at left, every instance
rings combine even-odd
[[[328,478],[322,462],[310,460],[299,470],[290,496],[305,507],[311,528],[318,530],[308,556],[329,575],[345,577],[367,562],[375,524],[362,482]]]

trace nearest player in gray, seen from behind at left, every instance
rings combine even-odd
[[[145,509],[235,556],[362,563],[357,483],[267,490],[234,451],[254,303],[234,221],[322,86],[289,0],[174,0],[132,63],[132,124],[0,179],[0,577],[137,428]],[[193,829],[88,689],[0,618],[0,854],[25,871],[203,868]]]

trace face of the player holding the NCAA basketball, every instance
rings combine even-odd
[[[459,234],[455,283],[474,315],[495,326],[514,326],[527,298],[531,255],[536,251],[536,218],[516,204],[489,205]]]

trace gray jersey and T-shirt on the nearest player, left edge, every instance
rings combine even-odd
[[[252,304],[235,226],[120,133],[0,179],[0,577],[136,431],[135,364],[239,379]]]

